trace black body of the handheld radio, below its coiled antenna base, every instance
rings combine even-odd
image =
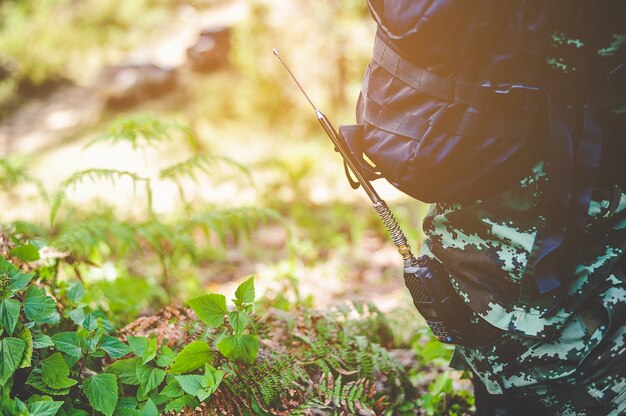
[[[404,268],[404,282],[413,304],[435,337],[446,344],[466,347],[486,345],[502,331],[477,317],[456,293],[441,264],[427,256]]]

